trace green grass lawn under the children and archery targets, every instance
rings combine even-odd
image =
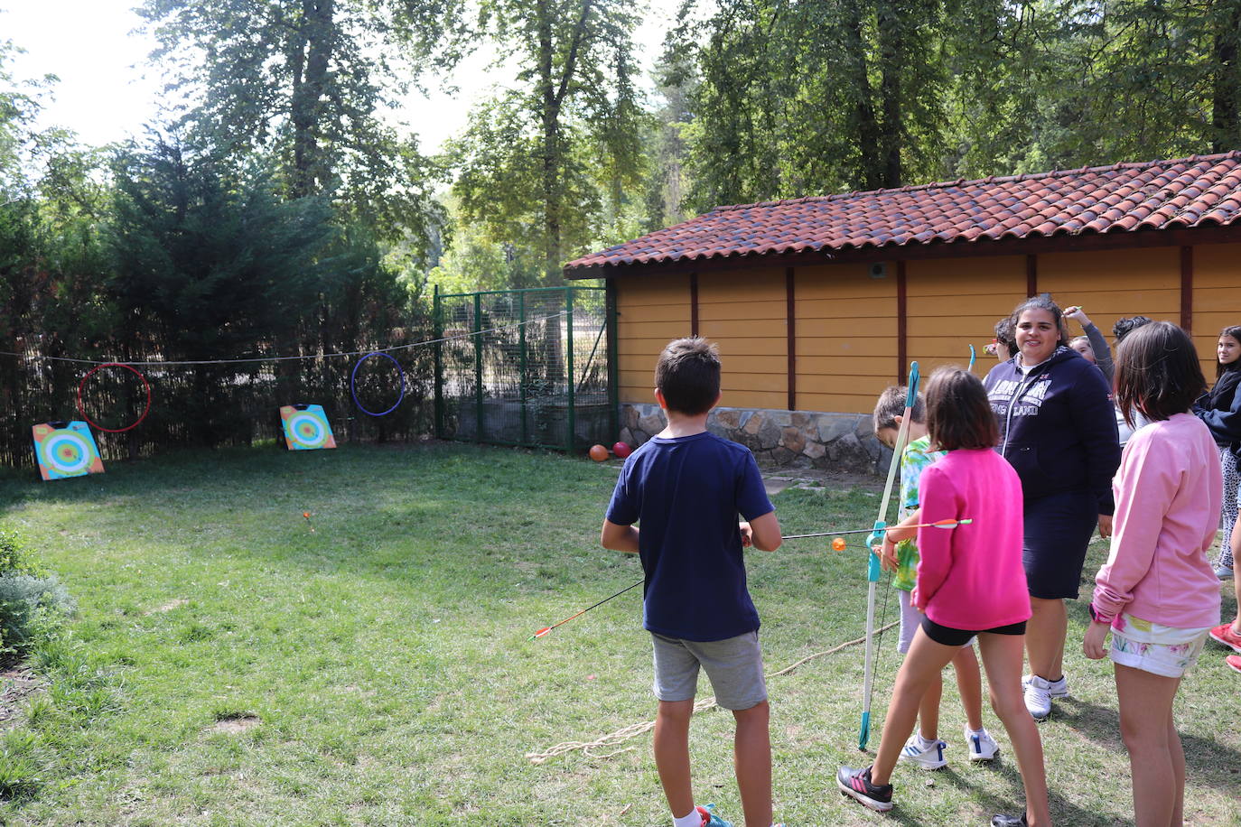
[[[4,736],[0,764],[31,763],[38,785],[0,802],[0,823],[669,823],[649,733],[594,756],[526,758],[654,710],[638,590],[527,640],[640,578],[637,559],[597,546],[614,471],[506,449],[351,445],[31,477],[0,476],[0,520],[78,611],[47,657],[50,688],[22,702]],[[877,507],[861,489],[789,489],[774,502],[786,533],[865,527]],[[862,552],[827,552],[829,539],[750,557],[769,671],[862,632]],[[1092,549],[1087,578],[1103,552]],[[1085,604],[1070,617],[1073,698],[1040,725],[1052,813],[1077,827],[1131,823],[1111,665],[1081,656]],[[895,640],[882,642],[877,727]],[[836,766],[866,760],[861,671],[855,646],[771,679],[777,818],[985,825],[1016,808],[1020,779],[989,710],[1001,760],[965,760],[951,678],[949,767],[898,767],[886,817],[843,798]],[[1207,645],[1176,713],[1186,823],[1241,825],[1241,676],[1221,647]],[[740,818],[731,732],[728,713],[701,713],[691,746],[699,801]]]

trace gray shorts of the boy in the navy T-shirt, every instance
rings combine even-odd
[[[758,632],[712,641],[650,634],[655,647],[655,697],[692,701],[699,667],[706,670],[715,701],[725,709],[750,709],[767,699]]]

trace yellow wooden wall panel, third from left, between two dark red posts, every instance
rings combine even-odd
[[[867,264],[793,270],[802,410],[874,410],[875,397],[896,376],[896,268],[882,279],[869,270]]]

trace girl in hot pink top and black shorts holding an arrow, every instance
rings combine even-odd
[[[869,767],[840,767],[836,785],[872,810],[892,808],[889,784],[927,687],[970,637],[978,636],[992,708],[1004,723],[1025,785],[1026,811],[992,825],[1050,825],[1042,743],[1025,709],[1021,666],[1030,594],[1021,567],[1021,482],[995,453],[999,427],[974,374],[939,368],[926,392],[932,448],[948,455],[922,471],[922,522],[965,520],[953,529],[917,529],[921,559],[912,601],[923,613],[896,676],[884,736]],[[912,536],[894,527],[890,539]]]

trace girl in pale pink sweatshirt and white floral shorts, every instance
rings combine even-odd
[[[1206,557],[1220,524],[1220,458],[1189,413],[1205,387],[1194,342],[1172,322],[1133,331],[1116,355],[1121,412],[1152,424],[1129,439],[1112,484],[1112,551],[1095,578],[1082,648],[1103,657],[1111,629],[1138,827],[1183,821],[1185,754],[1172,704],[1220,621],[1220,583]]]

